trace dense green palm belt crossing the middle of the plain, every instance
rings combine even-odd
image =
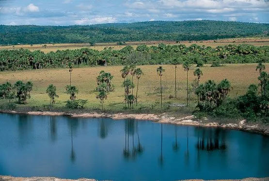
[[[140,45],[136,49],[126,46],[115,50],[111,47],[98,51],[82,48],[75,50],[57,50],[44,53],[40,50],[29,49],[1,49],[0,71],[25,70],[42,68],[68,68],[69,65],[79,66],[108,66],[108,65],[158,65],[183,64],[186,60],[190,64],[220,64],[269,62],[269,46],[255,47],[253,45],[225,45],[217,48],[192,44],[148,47]]]

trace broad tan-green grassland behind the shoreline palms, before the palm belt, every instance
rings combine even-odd
[[[266,64],[268,67],[269,64]],[[134,106],[135,110],[142,112],[150,112],[151,110],[158,111],[160,94],[159,94],[159,76],[156,72],[156,66],[139,66],[144,75],[140,79],[138,92],[138,106]],[[186,88],[187,88],[187,72],[184,71],[181,65],[177,66],[177,98],[174,97],[174,66],[164,65],[165,72],[162,77],[164,86],[163,102],[165,109],[176,110],[178,108],[169,105],[173,103],[186,103]],[[203,76],[201,82],[208,79],[220,82],[227,78],[233,89],[229,93],[231,97],[236,97],[245,94],[247,87],[251,83],[258,84],[258,72],[255,71],[256,64],[228,64],[222,67],[210,67],[205,65],[202,67]],[[193,69],[189,71],[189,86],[195,79]],[[112,82],[115,84],[115,91],[108,95],[105,100],[104,109],[106,111],[120,112],[124,108],[124,88],[121,86],[123,79],[120,70],[122,66],[102,66],[102,67],[81,67],[74,68],[72,72],[72,84],[79,89],[78,99],[88,99],[86,108],[91,110],[100,110],[101,104],[96,99],[94,89],[96,87],[96,77],[101,70],[111,72],[114,76]],[[12,83],[17,80],[32,81],[34,86],[31,94],[31,99],[28,100],[26,106],[47,106],[49,105],[49,97],[46,94],[47,86],[53,83],[57,86],[57,92],[60,96],[56,99],[56,107],[65,105],[69,95],[65,94],[64,86],[69,84],[70,74],[68,69],[41,69],[41,70],[26,70],[17,72],[0,72],[0,83],[10,81]],[[128,75],[130,78],[130,75]],[[134,78],[135,84],[137,79]],[[134,90],[135,92],[135,90]],[[191,105],[194,107],[196,96],[190,94]],[[1,100],[3,103],[4,100]]]

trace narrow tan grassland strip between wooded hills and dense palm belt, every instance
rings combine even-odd
[[[146,44],[147,46],[158,46],[159,43],[176,45],[174,41],[150,41],[150,42],[126,42],[126,46],[130,45],[137,48],[137,46]],[[269,46],[269,38],[231,38],[231,39],[220,39],[220,40],[206,40],[206,41],[181,41],[178,44],[184,44],[186,46],[190,46],[191,44],[197,45],[205,45],[210,46],[212,48],[216,48],[218,46],[224,46],[228,44],[250,44],[254,46]],[[44,44],[39,45],[16,45],[16,46],[2,46],[0,49],[30,49],[33,50],[41,50],[45,53],[50,51],[57,51],[63,49],[81,49],[81,48],[91,48],[96,49],[98,51],[103,50],[106,47],[112,47],[115,50],[123,49],[125,46],[116,45],[116,43],[96,43],[95,46],[90,46],[89,44],[46,44],[47,47],[44,48]]]

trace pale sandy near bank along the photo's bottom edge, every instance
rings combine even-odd
[[[70,180],[70,179],[59,179],[55,177],[30,177],[30,178],[22,178],[22,177],[10,177],[10,176],[0,176],[0,181],[96,181],[94,179],[85,179],[81,178],[78,180]],[[204,180],[185,180],[185,181],[204,181]],[[212,180],[213,181],[213,180]],[[214,181],[269,181],[269,177],[267,178],[247,178],[240,180],[214,180]]]

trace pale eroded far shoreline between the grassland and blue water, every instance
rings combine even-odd
[[[167,113],[160,115],[155,114],[125,114],[125,113],[116,113],[116,114],[107,114],[107,113],[65,113],[65,112],[41,112],[41,111],[31,111],[31,112],[19,112],[19,111],[2,111],[0,113],[9,113],[9,114],[27,114],[27,115],[51,115],[51,116],[70,116],[70,117],[84,117],[84,118],[112,118],[114,120],[119,119],[140,119],[140,120],[150,120],[157,123],[166,123],[166,124],[176,124],[176,125],[186,125],[186,126],[199,126],[199,127],[213,127],[213,128],[222,128],[222,129],[231,129],[239,130],[244,132],[254,132],[263,135],[269,136],[269,127],[256,125],[248,125],[246,120],[237,121],[237,123],[228,123],[220,124],[217,122],[203,122],[202,119],[197,119],[193,115],[185,117],[173,117],[169,116]]]

